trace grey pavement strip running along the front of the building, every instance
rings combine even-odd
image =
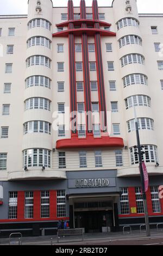
[[[54,236],[30,236],[22,237],[22,245],[163,245],[163,231],[151,230],[151,236],[147,237],[145,230],[134,230],[130,234],[126,232],[87,233],[82,236],[60,237]],[[0,245],[9,245],[9,238],[0,239]],[[18,245],[18,238],[11,239],[11,245]]]

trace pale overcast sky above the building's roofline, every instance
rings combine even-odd
[[[92,0],[85,0],[91,6]],[[79,6],[80,0],[73,0],[74,6]],[[112,0],[98,0],[99,6],[111,6]],[[53,6],[67,6],[67,0],[53,0]],[[162,13],[162,0],[137,0],[139,13]],[[27,14],[28,0],[0,0],[0,15]]]

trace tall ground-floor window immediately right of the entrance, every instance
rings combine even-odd
[[[121,188],[120,203],[121,203],[121,214],[130,214],[129,197],[128,197],[128,188],[127,187]]]

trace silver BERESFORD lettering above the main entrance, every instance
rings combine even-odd
[[[76,187],[109,187],[109,179],[77,179]]]

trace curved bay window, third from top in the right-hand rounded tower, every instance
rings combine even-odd
[[[145,64],[145,59],[142,55],[140,54],[128,54],[121,58],[121,66],[126,66],[128,64]]]

